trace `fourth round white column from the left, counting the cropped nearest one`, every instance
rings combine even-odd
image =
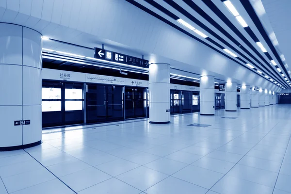
[[[226,111],[237,111],[237,82],[226,82]]]

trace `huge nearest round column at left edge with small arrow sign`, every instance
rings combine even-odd
[[[0,151],[41,144],[42,39],[0,23]]]

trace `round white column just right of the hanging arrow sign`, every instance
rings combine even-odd
[[[170,65],[149,65],[149,122],[170,123]]]

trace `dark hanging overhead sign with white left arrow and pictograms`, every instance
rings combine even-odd
[[[112,61],[112,62],[125,64],[125,65],[134,65],[134,66],[139,66],[139,67],[144,67],[144,68],[148,68],[149,66],[148,60],[145,60],[145,59],[132,57],[129,55],[113,52],[110,50],[99,49],[96,47],[94,49],[95,49],[95,54],[94,54],[95,59],[102,59],[106,61]]]

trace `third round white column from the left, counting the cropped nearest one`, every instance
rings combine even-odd
[[[200,114],[214,115],[214,76],[200,77]]]

